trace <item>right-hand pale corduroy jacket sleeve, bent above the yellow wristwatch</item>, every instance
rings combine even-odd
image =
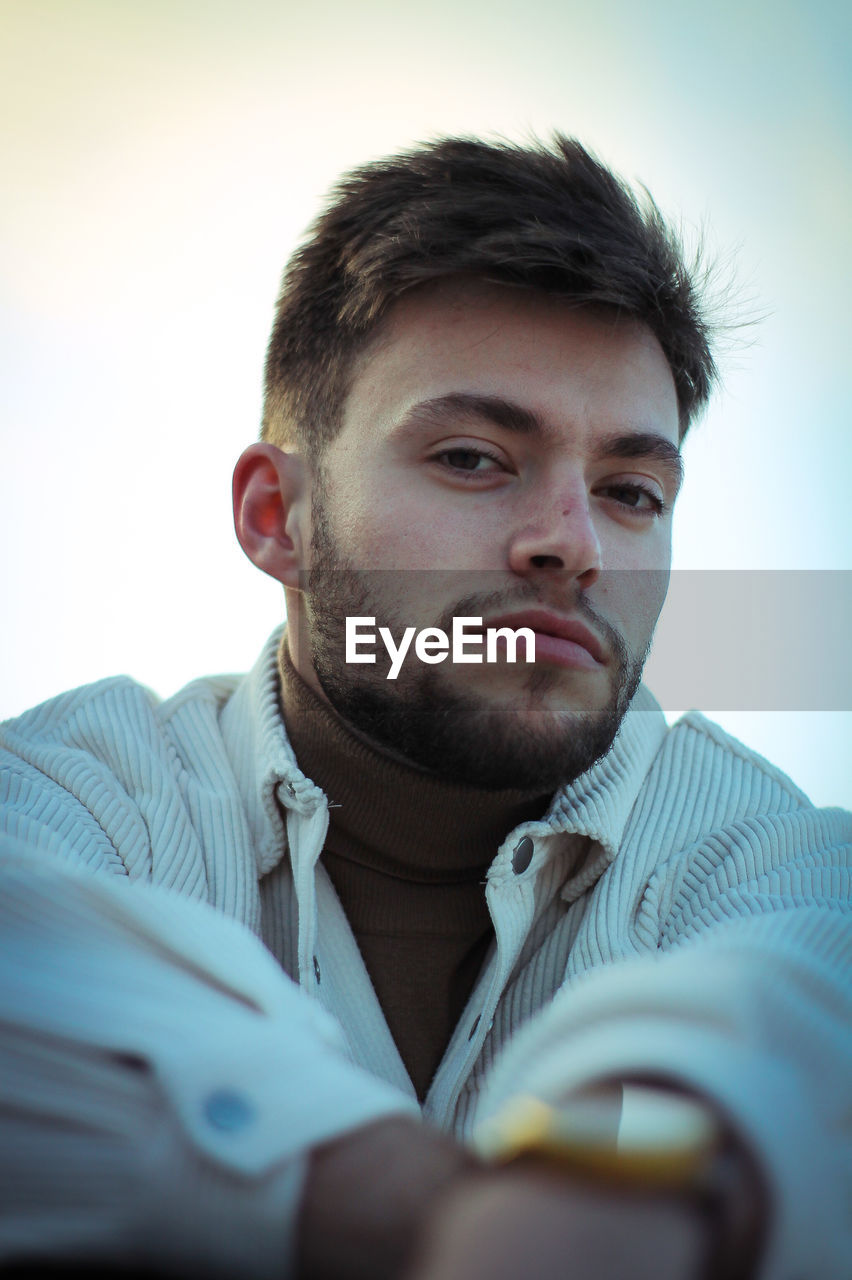
[[[669,892],[660,872],[637,925],[656,948],[569,980],[496,1064],[477,1114],[649,1074],[715,1100],[769,1184],[761,1280],[848,1280],[852,1265],[849,847],[815,846],[812,814],[718,833]],[[839,826],[848,838],[848,817]]]

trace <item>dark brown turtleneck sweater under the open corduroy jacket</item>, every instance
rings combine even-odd
[[[299,768],[333,806],[322,863],[422,1101],[493,937],[485,873],[549,796],[458,786],[393,760],[304,684],[285,645],[279,669]]]

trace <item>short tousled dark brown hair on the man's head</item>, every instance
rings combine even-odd
[[[698,273],[650,197],[580,142],[444,138],[347,174],[284,273],[264,439],[313,457],[339,430],[353,358],[395,298],[450,275],[617,308],[656,335],[681,433],[716,370]]]

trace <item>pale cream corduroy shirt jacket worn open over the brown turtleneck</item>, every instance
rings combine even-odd
[[[3,726],[0,1260],[279,1276],[307,1149],[420,1114],[317,861],[279,639],[246,678],[168,701],[106,680]],[[849,814],[641,691],[495,851],[495,945],[425,1116],[464,1138],[518,1089],[670,1076],[762,1161],[765,1280],[848,1280],[851,842]]]

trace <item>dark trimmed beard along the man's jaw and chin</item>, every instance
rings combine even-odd
[[[555,791],[573,782],[605,755],[642,675],[623,637],[591,609],[576,588],[569,608],[588,618],[614,655],[615,678],[609,704],[595,714],[540,709],[536,724],[504,705],[453,687],[441,668],[418,660],[403,663],[395,681],[385,678],[381,650],[371,666],[347,664],[347,617],[375,617],[395,637],[402,623],[383,602],[404,602],[412,573],[430,571],[356,570],[347,566],[331,536],[324,504],[315,504],[312,568],[306,575],[307,639],[313,669],[335,710],[363,737],[390,755],[454,782],[486,790]],[[444,573],[444,576],[448,576]],[[476,575],[481,580],[485,575]],[[505,581],[504,575],[494,575]],[[469,573],[458,580],[469,581]],[[383,588],[381,590],[376,590]],[[468,594],[435,622],[450,632],[453,617],[496,616],[541,600],[533,584],[493,593]],[[564,605],[563,605],[564,607]],[[448,659],[449,660],[449,659]],[[560,673],[531,668],[518,678],[518,708],[535,705]]]

